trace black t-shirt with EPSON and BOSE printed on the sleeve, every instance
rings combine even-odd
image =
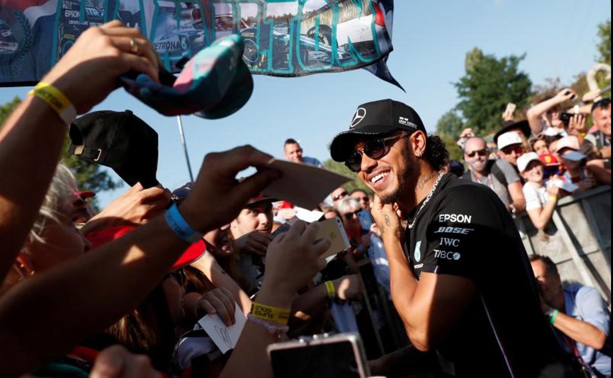
[[[452,334],[435,346],[443,371],[456,377],[565,376],[519,233],[489,187],[443,176],[414,228],[406,230],[405,247],[418,279],[428,272],[477,283]]]

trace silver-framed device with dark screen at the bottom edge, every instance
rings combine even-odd
[[[367,378],[362,339],[357,333],[314,335],[267,347],[275,378]]]

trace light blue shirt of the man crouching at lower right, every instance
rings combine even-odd
[[[590,323],[609,335],[611,314],[598,290],[590,286],[569,285],[564,289],[564,303],[566,315]],[[576,344],[585,363],[602,374],[611,374],[611,357],[579,342]]]

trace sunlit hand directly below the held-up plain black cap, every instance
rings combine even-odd
[[[87,235],[116,225],[147,224],[164,213],[170,203],[170,195],[170,191],[161,186],[143,189],[143,186],[137,183],[89,219],[81,231],[83,235]]]

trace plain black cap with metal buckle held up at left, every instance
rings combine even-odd
[[[158,185],[158,133],[130,110],[88,113],[70,124],[69,154],[113,170],[129,186]]]

